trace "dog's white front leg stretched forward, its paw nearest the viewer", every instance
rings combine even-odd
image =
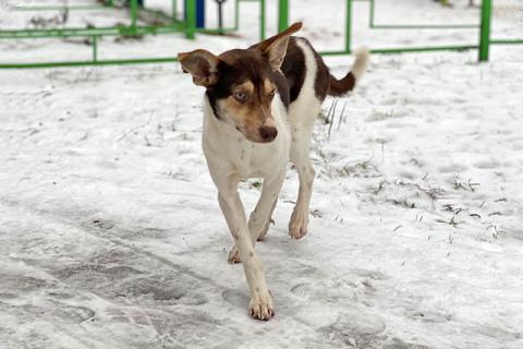
[[[227,178],[218,185],[218,201],[229,230],[238,248],[251,291],[250,313],[259,320],[269,320],[275,314],[272,298],[265,281],[262,261],[251,241],[245,210],[238,194],[238,179]]]

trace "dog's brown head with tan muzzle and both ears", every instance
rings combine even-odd
[[[289,37],[300,31],[294,23],[282,33],[248,49],[215,56],[206,50],[179,53],[184,72],[207,89],[217,117],[257,143],[272,142],[278,135],[271,115],[277,93],[275,71],[285,58]]]

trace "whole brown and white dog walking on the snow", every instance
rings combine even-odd
[[[353,89],[368,60],[360,50],[351,72],[337,80],[306,39],[291,36],[301,27],[295,23],[248,49],[219,56],[202,49],[179,53],[183,71],[206,88],[204,154],[234,238],[229,262],[243,262],[250,313],[259,320],[272,317],[275,309],[254,245],[269,229],[287,164],[294,164],[300,178],[289,233],[301,239],[307,233],[315,174],[309,160],[314,120],[327,95]],[[248,221],[238,194],[239,181],[246,178],[264,179]]]

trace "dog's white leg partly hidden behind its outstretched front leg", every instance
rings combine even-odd
[[[269,230],[272,212],[275,210],[276,203],[278,201],[278,194],[280,193],[281,185],[285,178],[285,171],[282,170],[275,177],[266,178],[264,180],[264,186],[262,189],[262,195],[259,196],[256,207],[251,213],[248,219],[248,230],[251,232],[251,240],[253,246],[256,240],[262,240]],[[229,252],[229,263],[240,263],[241,258],[236,245],[234,244]]]

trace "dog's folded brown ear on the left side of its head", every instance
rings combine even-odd
[[[209,87],[218,82],[219,59],[209,51],[181,52],[178,53],[178,59],[183,72],[191,73],[196,85]]]

